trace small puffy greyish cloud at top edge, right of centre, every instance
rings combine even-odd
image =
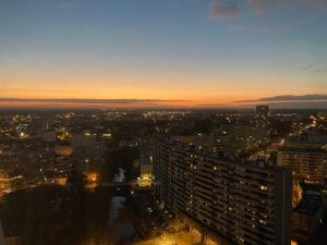
[[[240,14],[240,7],[237,0],[216,0],[210,3],[210,17],[235,17]]]

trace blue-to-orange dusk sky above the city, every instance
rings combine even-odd
[[[326,24],[327,0],[1,0],[0,106],[327,108]]]

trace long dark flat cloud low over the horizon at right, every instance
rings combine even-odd
[[[281,95],[274,97],[259,98],[254,100],[239,100],[235,103],[254,103],[254,102],[315,102],[326,101],[327,95]]]

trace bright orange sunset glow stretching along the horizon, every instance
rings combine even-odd
[[[20,79],[19,79],[20,78]],[[294,94],[294,88],[283,88],[274,85],[257,86],[261,81],[242,82],[235,78],[218,77],[217,81],[209,77],[160,77],[157,76],[116,76],[111,78],[89,76],[69,77],[65,82],[58,82],[60,77],[53,75],[51,78],[16,77],[19,82],[9,82],[0,86],[0,98],[27,98],[27,99],[140,99],[162,100],[143,103],[69,103],[69,102],[33,102],[33,101],[0,101],[1,108],[149,108],[149,107],[244,107],[253,102],[238,103],[239,100],[255,100],[262,97],[270,97],[280,94]],[[43,82],[46,81],[46,82]],[[77,82],[78,81],[78,82]],[[114,82],[116,81],[116,82]],[[307,91],[307,89],[306,89]],[[301,94],[299,90],[298,94]],[[316,91],[314,91],[316,93]],[[320,91],[322,93],[322,91]],[[303,93],[302,93],[303,94]],[[307,94],[307,93],[306,93]]]

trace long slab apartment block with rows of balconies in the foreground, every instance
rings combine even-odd
[[[291,173],[220,159],[198,147],[158,139],[158,197],[235,244],[290,244]]]

